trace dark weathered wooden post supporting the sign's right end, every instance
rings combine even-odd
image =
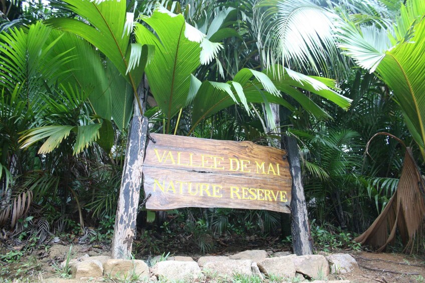
[[[306,197],[301,180],[301,166],[297,141],[293,137],[285,136],[283,148],[288,152],[289,168],[292,175],[292,245],[297,255],[313,254],[313,240],[310,233],[307,215]]]

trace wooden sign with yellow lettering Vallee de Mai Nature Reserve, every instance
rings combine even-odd
[[[146,208],[227,207],[290,213],[286,151],[252,142],[151,134],[143,179]],[[155,141],[155,142],[154,142]]]

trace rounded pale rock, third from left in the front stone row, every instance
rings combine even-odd
[[[202,275],[201,268],[195,261],[166,260],[157,262],[152,267],[152,273],[158,278],[168,280],[194,281]]]

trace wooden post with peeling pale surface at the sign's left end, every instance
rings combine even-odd
[[[134,116],[128,131],[127,150],[119,188],[111,248],[112,258],[131,258],[147,133],[148,118]]]

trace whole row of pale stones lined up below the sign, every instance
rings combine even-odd
[[[249,251],[248,251],[249,252]],[[263,252],[265,252],[263,250]],[[242,252],[243,254],[244,252]],[[247,252],[245,251],[245,254]],[[335,254],[338,255],[338,254]],[[319,255],[324,258],[323,256]],[[314,257],[314,256],[313,256]],[[102,274],[99,273],[99,268],[102,266],[100,261],[94,260],[96,256],[85,258],[85,261],[77,261],[73,259],[76,264],[75,268],[72,269],[73,276],[82,278],[82,277],[100,277]],[[194,281],[205,279],[204,275],[210,279],[215,277],[224,277],[232,278],[235,273],[243,273],[248,276],[261,276],[264,275],[284,275],[288,279],[293,279],[297,276],[308,276],[312,277],[315,274],[321,274],[321,276],[329,274],[329,267],[321,267],[326,265],[322,263],[321,266],[317,263],[317,259],[312,256],[296,256],[295,254],[289,256],[275,256],[267,257],[260,262],[255,262],[250,259],[229,259],[229,256],[203,256],[198,259],[198,264],[193,261],[191,257],[179,257],[175,256],[174,258],[184,258],[185,260],[191,259],[191,261],[179,261],[179,260],[166,260],[157,262],[154,265],[154,268],[149,270],[146,263],[142,260],[113,260],[111,259],[109,263],[103,264],[103,276],[111,278],[113,275],[122,275],[126,276],[125,278],[130,278],[134,273],[138,272],[139,275],[136,275],[134,278],[139,280],[145,280],[146,282],[155,282],[158,278],[166,278],[169,280],[185,280],[185,282],[192,282],[190,278],[193,278]],[[310,262],[311,261],[311,262]],[[355,261],[355,260],[354,260]],[[96,262],[95,265],[87,264],[87,262]],[[139,267],[134,267],[134,263]],[[297,263],[298,262],[298,263]],[[302,262],[303,264],[299,264]],[[113,263],[113,264],[111,264]],[[248,264],[249,263],[249,264]],[[331,262],[330,262],[331,263]],[[77,265],[79,264],[79,265]],[[99,266],[100,265],[100,266]],[[85,266],[85,267],[84,267]],[[91,270],[88,270],[86,267],[91,266]],[[110,267],[113,266],[111,269]],[[130,268],[132,266],[132,268]],[[143,267],[140,269],[140,266]],[[156,267],[155,267],[156,266]],[[287,268],[289,266],[289,268]],[[79,268],[81,267],[81,268]],[[84,268],[83,268],[84,267]],[[293,267],[293,268],[292,268]],[[282,270],[284,268],[285,270]],[[140,271],[140,270],[144,271]],[[327,269],[327,270],[326,270]],[[85,273],[82,273],[84,271]],[[114,273],[113,271],[118,271]],[[125,272],[126,273],[125,273]],[[303,274],[301,274],[303,273]],[[78,275],[80,274],[80,275]],[[99,275],[100,274],[100,275]],[[185,278],[185,279],[183,279]],[[302,278],[301,278],[302,279]],[[47,280],[49,281],[49,280]],[[57,282],[57,280],[51,280],[51,282]],[[313,282],[325,282],[325,281],[313,281]],[[326,281],[329,282],[348,282],[348,281]]]

